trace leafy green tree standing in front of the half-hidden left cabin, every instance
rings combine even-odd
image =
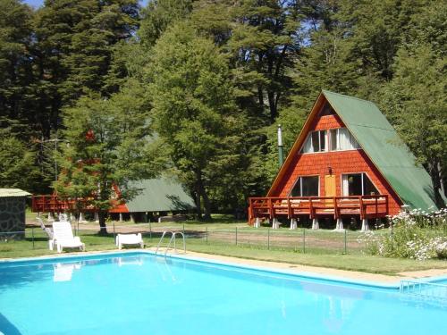
[[[149,164],[146,93],[130,81],[108,100],[97,94],[83,96],[65,110],[64,126],[67,145],[59,158],[62,172],[55,189],[61,197],[75,199],[79,211],[96,208],[100,233],[105,233],[111,200],[131,199],[139,191],[131,181],[155,173]]]

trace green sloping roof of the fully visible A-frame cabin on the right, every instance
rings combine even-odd
[[[323,95],[403,203],[423,210],[436,208],[430,176],[377,106],[326,90]]]

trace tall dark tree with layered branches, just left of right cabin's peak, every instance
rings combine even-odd
[[[192,15],[195,26],[232,55],[245,88],[240,104],[254,107],[267,123],[274,122],[291,87],[287,68],[299,52],[300,18],[295,2],[283,0],[202,0]]]

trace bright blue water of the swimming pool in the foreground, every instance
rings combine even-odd
[[[447,308],[397,289],[149,254],[0,264],[14,334],[440,334]]]

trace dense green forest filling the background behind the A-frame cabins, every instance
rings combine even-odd
[[[329,89],[381,108],[440,203],[446,16],[430,0],[0,0],[0,187],[105,208],[111,183],[129,198],[165,174],[199,216],[244,211],[278,171],[277,125],[287,153]]]

